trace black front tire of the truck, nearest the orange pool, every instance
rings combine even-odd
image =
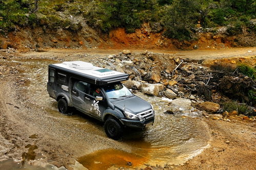
[[[109,138],[119,140],[123,134],[123,126],[117,120],[108,118],[104,123],[105,133]]]

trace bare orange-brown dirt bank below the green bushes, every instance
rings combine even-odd
[[[253,33],[247,32],[229,36],[226,28],[219,28],[214,32],[199,29],[194,40],[179,41],[165,37],[163,30],[152,30],[149,24],[143,24],[141,29],[136,29],[130,34],[127,34],[123,28],[117,28],[109,34],[102,34],[84,24],[77,32],[63,29],[49,30],[44,27],[35,29],[17,27],[15,31],[0,36],[0,49],[15,48],[26,51],[40,48],[226,49],[256,46],[255,38]]]

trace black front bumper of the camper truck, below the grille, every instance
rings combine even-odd
[[[152,119],[149,119],[149,120],[144,119],[143,121],[140,121],[140,120],[130,120],[130,119],[125,119],[125,118],[121,118],[120,120],[121,120],[121,122],[125,126],[128,126],[130,128],[144,129],[148,125],[153,125],[154,117]]]

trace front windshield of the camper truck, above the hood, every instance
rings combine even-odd
[[[103,89],[110,99],[133,96],[133,94],[122,83],[111,84],[109,86],[105,86]]]

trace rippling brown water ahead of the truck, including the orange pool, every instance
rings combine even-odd
[[[100,150],[80,157],[77,161],[89,169],[110,167],[145,168],[145,164],[183,164],[200,154],[209,143],[210,134],[205,122],[199,117],[164,114],[168,103],[161,98],[137,93],[151,102],[156,109],[155,122],[147,131],[126,134],[124,151]],[[130,148],[126,151],[126,148]]]

